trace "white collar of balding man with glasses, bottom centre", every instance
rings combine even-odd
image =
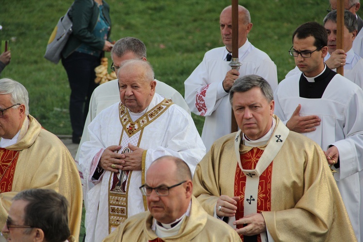
[[[177,220],[175,220],[174,222],[170,223],[170,224],[163,224],[160,222],[157,222],[156,219],[154,219],[153,225],[151,227],[151,229],[153,231],[155,231],[155,234],[159,237],[159,238],[164,238],[164,237],[170,237],[173,235],[177,235],[179,233],[179,230],[181,228],[181,225],[184,221],[184,219],[187,216],[190,216],[190,209],[192,206],[192,201],[190,201],[188,209],[186,210],[186,212],[181,215],[180,218],[178,218]]]

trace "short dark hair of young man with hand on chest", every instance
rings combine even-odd
[[[317,22],[307,22],[300,25],[292,34],[292,43],[294,43],[295,35],[298,39],[306,39],[309,36],[314,37],[314,45],[318,49],[321,46],[324,47],[328,45],[328,34],[326,33],[325,28]]]

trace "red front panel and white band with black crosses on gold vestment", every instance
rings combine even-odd
[[[236,220],[248,214],[271,211],[272,161],[289,134],[288,128],[275,115],[273,118],[276,120],[276,126],[264,151],[252,148],[247,149],[247,152],[240,152],[243,134],[241,130],[236,133],[235,154],[238,165],[234,194],[241,197]],[[259,236],[262,241],[267,241],[266,233]]]

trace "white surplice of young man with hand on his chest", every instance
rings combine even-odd
[[[330,145],[338,149],[340,168],[334,178],[357,239],[363,241],[363,91],[337,74],[321,98],[302,98],[300,76],[280,82],[274,93],[274,113],[286,122],[301,104],[300,116],[318,115],[321,119],[315,131],[302,135],[313,139],[324,151]]]

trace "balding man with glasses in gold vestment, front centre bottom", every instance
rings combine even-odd
[[[104,242],[237,242],[236,231],[203,210],[193,196],[188,165],[173,156],[155,160],[140,187],[149,211],[128,218]]]

